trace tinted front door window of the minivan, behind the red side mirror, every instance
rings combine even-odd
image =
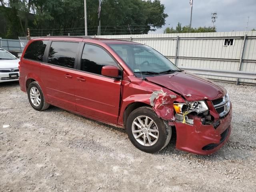
[[[117,67],[116,62],[102,48],[90,44],[84,46],[81,60],[82,71],[101,74],[102,67],[106,65]]]

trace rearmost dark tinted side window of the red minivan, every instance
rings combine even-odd
[[[29,44],[24,54],[24,58],[42,62],[47,42],[47,40],[34,41],[31,44]]]

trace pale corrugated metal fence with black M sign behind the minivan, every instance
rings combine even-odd
[[[246,36],[245,32],[211,32],[96,37],[146,44],[158,50],[178,67],[200,75],[205,74],[206,78],[236,82],[237,78],[234,78],[234,74],[230,76],[228,71],[243,71],[244,75],[247,72],[252,76],[256,74],[255,31],[247,32]],[[196,72],[196,69],[200,69],[200,72]],[[227,75],[222,73],[222,76],[216,76],[216,71],[224,71]],[[241,74],[238,76],[241,77]],[[256,84],[255,78],[239,79],[239,82]]]

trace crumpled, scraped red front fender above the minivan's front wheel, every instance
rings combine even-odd
[[[178,94],[135,76],[125,76],[121,84],[120,116],[118,124],[124,125],[124,114],[129,104],[141,102],[152,106],[156,114],[164,119],[174,121],[173,102],[185,102]]]

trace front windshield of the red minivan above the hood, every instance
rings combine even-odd
[[[154,76],[181,71],[162,54],[146,45],[109,44],[134,74]]]

